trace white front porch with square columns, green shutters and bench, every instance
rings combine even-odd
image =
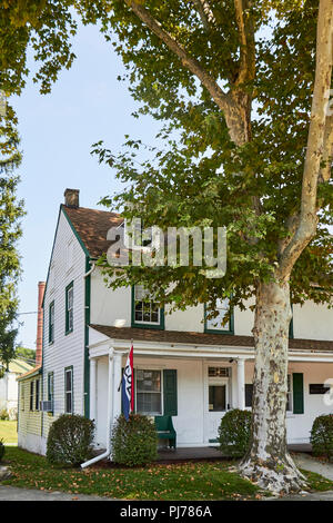
[[[113,328],[108,328],[112,330],[109,336],[105,329],[101,334],[91,328],[94,339],[89,351],[90,417],[97,422],[100,448],[107,444],[108,427],[121,413],[120,383],[130,345],[128,339],[112,338]],[[251,408],[253,348],[172,342],[134,338],[135,411],[172,417],[178,448],[161,450],[159,461],[223,458],[214,446],[221,417],[232,408]],[[332,373],[333,352],[326,347],[290,349],[286,425],[291,451],[310,452],[314,418],[332,413],[323,387]]]

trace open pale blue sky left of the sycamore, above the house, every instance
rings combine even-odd
[[[138,106],[125,83],[117,80],[123,72],[121,59],[98,28],[80,27],[74,52],[78,58],[72,68],[61,72],[50,95],[40,95],[30,79],[23,93],[10,100],[19,118],[23,152],[19,197],[27,210],[19,244],[21,313],[37,310],[38,282],[47,277],[64,189],[80,189],[80,205],[98,208],[102,196],[121,187],[114,171],[90,155],[91,145],[103,139],[118,151],[125,134],[155,142],[153,119],[131,116]],[[18,343],[34,348],[37,316],[21,315],[20,322]]]

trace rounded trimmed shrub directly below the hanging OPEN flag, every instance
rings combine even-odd
[[[129,421],[118,417],[111,435],[112,460],[127,466],[151,463],[158,456],[158,433],[154,422],[140,414]]]

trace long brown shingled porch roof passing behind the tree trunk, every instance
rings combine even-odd
[[[216,345],[233,347],[254,347],[252,336],[233,334],[188,333],[182,330],[159,330],[133,327],[108,327],[90,325],[101,334],[114,339],[137,339],[138,342],[183,343],[188,345]],[[292,351],[333,352],[333,341],[290,339]]]

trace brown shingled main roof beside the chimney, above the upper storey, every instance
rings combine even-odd
[[[117,213],[88,209],[85,207],[61,206],[77,235],[83,243],[91,258],[99,258],[107,253],[110,241],[107,240],[108,230],[122,224],[123,218]]]

